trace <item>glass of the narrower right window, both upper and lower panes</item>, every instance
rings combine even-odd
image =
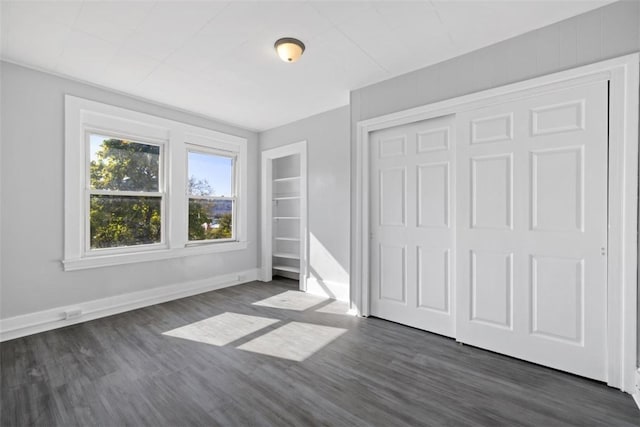
[[[235,158],[189,150],[187,162],[189,241],[233,240]]]

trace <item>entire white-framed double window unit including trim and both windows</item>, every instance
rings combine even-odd
[[[65,270],[246,249],[246,139],[73,96],[65,115]]]

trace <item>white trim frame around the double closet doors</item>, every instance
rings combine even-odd
[[[607,383],[635,392],[638,268],[638,90],[635,53],[357,123],[352,309],[369,315],[369,133],[493,103],[608,80],[609,254]]]

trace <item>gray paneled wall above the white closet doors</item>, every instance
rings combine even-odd
[[[640,2],[623,0],[352,91],[351,182],[355,182],[356,124],[360,120],[638,51]],[[355,199],[352,199],[351,207],[351,212],[355,212]],[[351,224],[355,224],[354,217]],[[355,240],[352,240],[353,248]],[[353,250],[351,256],[355,256]],[[640,355],[640,339],[638,344]]]

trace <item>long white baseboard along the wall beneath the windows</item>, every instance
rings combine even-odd
[[[251,282],[257,280],[259,274],[256,268],[0,319],[0,342]],[[64,318],[64,312],[78,309],[82,311],[79,317]]]

